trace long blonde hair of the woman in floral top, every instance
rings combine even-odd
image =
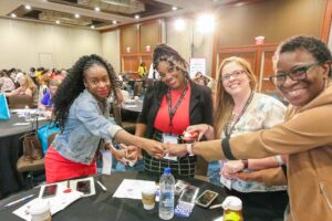
[[[235,105],[232,97],[226,92],[221,82],[221,71],[227,64],[232,62],[241,65],[245,69],[246,74],[249,77],[249,85],[251,91],[256,91],[257,86],[256,76],[251,70],[250,64],[246,60],[238,56],[230,56],[222,60],[217,73],[217,85],[214,108],[215,137],[220,137],[221,131],[224,130],[226,124],[229,120]]]

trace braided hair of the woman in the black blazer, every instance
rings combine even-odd
[[[173,48],[168,46],[167,44],[159,44],[155,48],[153,54],[154,70],[157,69],[159,62],[162,61],[168,62],[169,66],[175,66],[174,62],[177,61],[183,63],[185,69],[187,69],[186,60],[184,60],[184,57],[181,57],[181,55],[177,51],[175,51]],[[188,72],[186,70],[180,70],[180,71],[185,72],[186,76],[188,75]]]

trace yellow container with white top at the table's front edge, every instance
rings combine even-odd
[[[237,197],[227,197],[222,202],[224,221],[243,221],[242,201]]]

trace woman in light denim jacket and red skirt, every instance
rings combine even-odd
[[[125,146],[128,151],[116,150],[110,144],[112,139],[143,147],[157,158],[163,156],[159,143],[135,137],[108,119],[106,98],[111,91],[116,94],[117,88],[113,67],[97,55],[82,56],[70,70],[53,97],[61,131],[45,155],[48,183],[96,173],[95,155],[102,146],[117,159],[136,157],[136,147]]]

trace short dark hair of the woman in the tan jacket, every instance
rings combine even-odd
[[[277,49],[276,55],[280,55],[284,52],[293,52],[295,50],[305,50],[319,62],[331,62],[332,55],[328,45],[320,39],[314,36],[298,35],[292,36],[283,41]],[[331,76],[331,66],[330,66]]]

